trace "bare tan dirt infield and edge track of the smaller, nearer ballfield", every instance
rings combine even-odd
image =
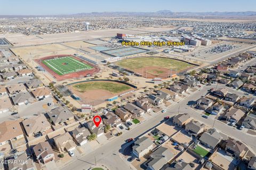
[[[95,81],[96,82],[96,81]],[[86,84],[86,83],[92,83],[92,82],[84,82],[84,83],[79,83],[79,84]],[[74,84],[72,86],[69,86],[69,89],[74,92],[77,96],[81,98],[81,103],[83,104],[89,104],[92,106],[99,105],[101,103],[104,103],[106,99],[118,96],[120,94],[123,94],[124,92],[130,91],[133,88],[130,86],[127,86],[125,84],[117,83],[117,82],[107,82],[107,81],[97,81],[97,83],[111,83],[111,84],[116,84],[117,89],[111,89],[106,90],[106,89],[99,89],[95,88],[95,86],[92,85],[92,89],[89,89],[86,87],[86,90],[78,90],[77,86],[79,84]],[[128,88],[122,88],[123,90],[120,89],[120,85]],[[111,92],[112,91],[112,92]],[[114,92],[115,91],[115,92]],[[118,91],[118,92],[117,92]]]

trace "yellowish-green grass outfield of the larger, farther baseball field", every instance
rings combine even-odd
[[[158,66],[158,67],[164,67],[166,69],[176,69],[183,70],[187,69],[191,66],[191,64],[188,64],[186,62],[182,62],[179,60],[174,60],[171,58],[161,58],[161,57],[139,57],[139,58],[129,58],[126,60],[121,60],[116,62],[116,65],[135,70],[140,69],[143,67],[149,67],[149,66]]]

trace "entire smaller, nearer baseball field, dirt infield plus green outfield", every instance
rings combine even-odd
[[[104,103],[106,99],[118,96],[133,88],[122,83],[117,82],[85,82],[69,86],[77,96],[81,98],[83,104],[99,105]]]

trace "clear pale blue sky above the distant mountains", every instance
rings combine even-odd
[[[256,11],[255,0],[0,0],[0,15],[75,14],[84,12]]]

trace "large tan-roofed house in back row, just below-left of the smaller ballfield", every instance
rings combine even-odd
[[[66,107],[57,107],[46,113],[53,125],[65,125],[74,120],[74,115]]]

